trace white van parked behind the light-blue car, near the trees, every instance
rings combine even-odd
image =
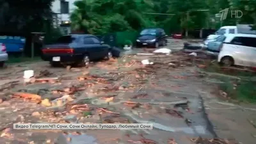
[[[211,40],[214,40],[218,38],[220,35],[225,35],[225,34],[236,34],[237,33],[237,26],[223,26],[218,31],[214,33],[214,35],[209,35],[206,38],[206,42],[211,42]]]

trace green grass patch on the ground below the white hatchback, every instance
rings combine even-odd
[[[232,79],[228,76],[215,76],[221,84],[218,85],[219,90],[227,93],[227,97],[239,100],[241,102],[256,102],[256,75],[255,72],[244,72],[239,70],[223,70],[217,63],[209,65],[205,69],[207,72],[225,74],[235,76],[237,79]]]

